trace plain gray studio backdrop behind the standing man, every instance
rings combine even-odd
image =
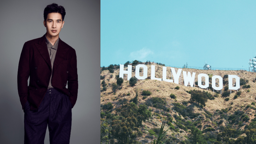
[[[44,8],[66,10],[60,38],[76,50],[78,97],[72,108],[70,144],[100,143],[100,0],[0,1],[0,143],[24,143],[24,112],[18,89],[20,53],[26,41],[42,37]],[[47,128],[45,144],[49,144]]]

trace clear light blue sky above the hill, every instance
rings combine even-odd
[[[100,4],[100,66],[248,68],[256,54],[256,1],[110,1]]]

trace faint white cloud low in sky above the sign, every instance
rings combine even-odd
[[[146,58],[150,54],[153,54],[153,52],[151,50],[149,50],[149,49],[144,47],[141,50],[138,50],[138,51],[135,51],[135,52],[131,52],[130,55],[129,55],[129,59],[140,60],[142,62],[145,62]]]

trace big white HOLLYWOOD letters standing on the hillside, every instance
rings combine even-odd
[[[140,76],[140,68],[143,68],[143,76]],[[171,72],[173,75],[173,80],[172,79],[167,79],[166,78],[166,67],[163,67],[163,81],[165,82],[170,82],[170,83],[176,83],[179,84],[179,78],[181,77],[181,71],[182,69],[179,68],[177,73],[174,68],[171,68]],[[124,65],[120,64],[120,72],[119,72],[119,77],[124,78],[124,74],[127,74],[127,80],[130,80],[132,77],[132,65],[128,65],[128,70],[124,70]],[[191,73],[186,71],[182,71],[183,78],[184,78],[184,85],[188,86],[188,83],[190,84],[191,87],[193,87],[194,82],[195,82],[195,76],[196,73],[193,72],[192,76]],[[148,67],[143,64],[139,64],[135,67],[135,77],[140,80],[144,80],[148,77]],[[202,77],[205,77],[205,85],[202,84]],[[236,79],[236,86],[233,86],[233,78]],[[151,79],[153,80],[159,80],[162,81],[161,78],[156,78],[155,77],[155,66],[151,65]],[[216,86],[216,79],[219,79],[219,86]],[[198,86],[200,88],[208,88],[209,87],[209,76],[206,74],[199,74],[198,75]],[[212,88],[214,90],[221,90],[223,89],[223,79],[221,76],[212,76]],[[240,78],[236,75],[228,75],[228,89],[229,90],[238,90],[240,88]]]

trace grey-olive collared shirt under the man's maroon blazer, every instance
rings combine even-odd
[[[52,45],[49,42],[46,35],[44,35],[44,37],[45,37],[45,42],[46,42],[48,52],[49,52],[49,55],[50,55],[51,65],[52,65],[52,68],[53,68],[53,63],[54,63],[54,60],[55,60],[55,56],[56,56],[56,52],[57,52],[60,37],[57,39],[57,41],[55,42],[54,45]],[[52,74],[51,74],[50,82],[49,82],[49,85],[48,85],[48,89],[51,89],[51,88],[53,88],[52,87]]]

